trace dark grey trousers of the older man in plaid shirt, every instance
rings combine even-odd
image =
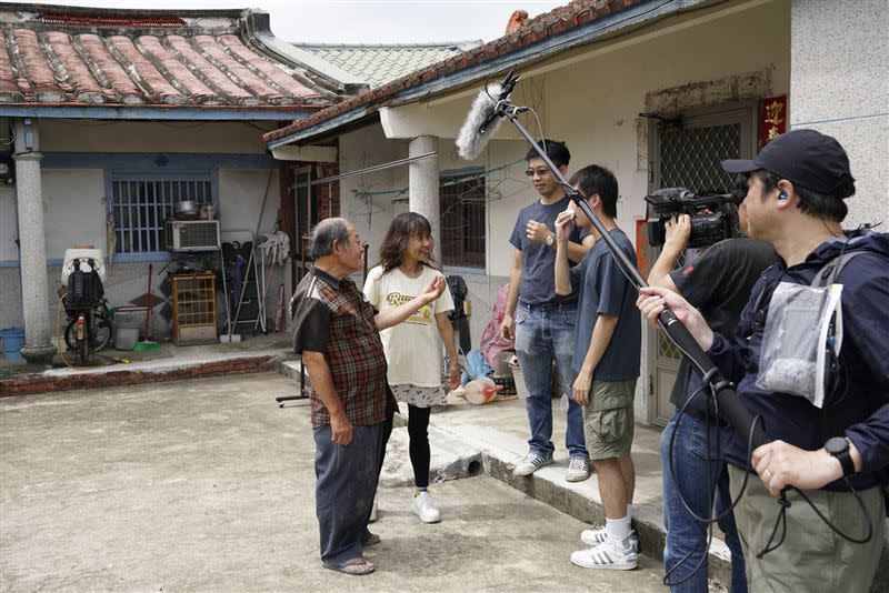
[[[353,426],[348,445],[330,440],[330,424],[314,429],[314,504],[324,564],[360,556],[361,544],[370,536],[368,520],[379,478],[382,426],[382,422]]]

